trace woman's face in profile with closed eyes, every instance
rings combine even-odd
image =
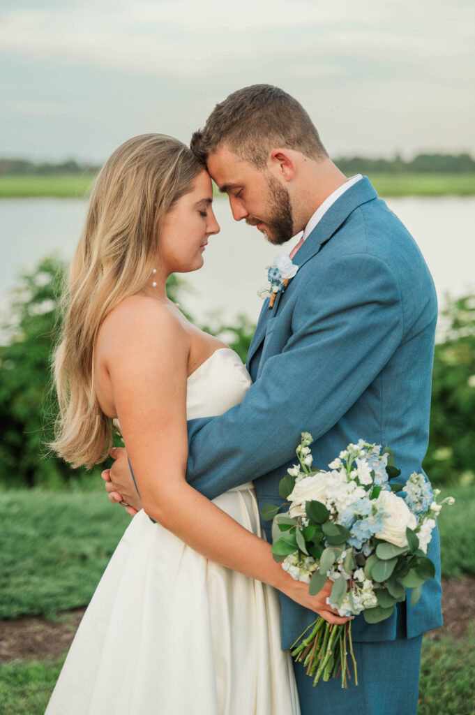
[[[211,178],[204,169],[190,192],[166,214],[159,237],[159,265],[166,273],[188,273],[204,263],[208,238],[219,232],[214,217]]]

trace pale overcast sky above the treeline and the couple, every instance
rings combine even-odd
[[[1,0],[0,72],[4,157],[188,142],[257,82],[299,99],[333,156],[475,154],[474,0]]]

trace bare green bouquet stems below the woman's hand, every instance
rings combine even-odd
[[[310,631],[310,635],[306,633]],[[328,623],[324,618],[316,619],[301,633],[291,646],[293,658],[304,661],[306,674],[314,678],[314,687],[320,679],[324,682],[341,676],[341,687],[347,687],[351,678],[349,660],[353,664],[354,681],[358,685],[358,671],[351,641],[351,621],[339,626]],[[349,657],[348,657],[349,656]]]

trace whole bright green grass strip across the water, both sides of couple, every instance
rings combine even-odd
[[[371,174],[381,196],[474,196],[475,174]],[[84,197],[93,174],[0,176],[0,198]]]

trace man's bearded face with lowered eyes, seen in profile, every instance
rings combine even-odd
[[[219,191],[228,194],[236,221],[256,226],[269,242],[281,245],[294,235],[289,192],[270,171],[261,171],[226,147],[207,162]]]

